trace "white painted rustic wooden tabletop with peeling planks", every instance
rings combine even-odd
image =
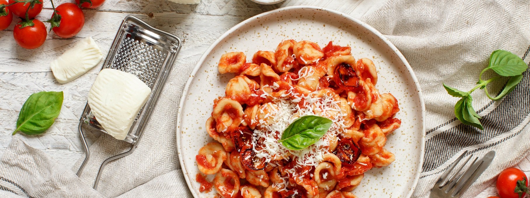
[[[29,95],[39,91],[64,91],[64,103],[52,127],[40,136],[16,134],[31,146],[45,151],[65,168],[71,168],[84,154],[77,133],[78,119],[86,103],[86,95],[101,65],[67,84],[54,79],[49,63],[77,40],[93,37],[103,53],[107,53],[117,28],[126,15],[139,16],[149,24],[178,35],[183,40],[176,64],[196,61],[222,33],[251,16],[291,5],[313,5],[351,13],[354,17],[371,13],[387,0],[287,0],[276,5],[259,5],[250,0],[201,0],[197,5],[184,5],[166,0],[107,0],[97,10],[84,10],[85,25],[75,37],[61,39],[49,33],[45,44],[34,50],[23,49],[13,40],[14,20],[10,28],[0,31],[0,155],[3,154],[15,129],[17,116]],[[55,5],[68,0],[56,0]],[[51,16],[51,4],[45,0],[44,9],[37,19],[45,21]],[[48,25],[48,24],[47,24]],[[49,26],[49,25],[48,25]],[[103,61],[102,61],[103,62]],[[100,64],[102,64],[102,62]],[[173,71],[178,72],[178,71]],[[100,133],[89,134],[89,143]],[[530,174],[530,156],[518,167]],[[479,195],[495,195],[494,187]]]

